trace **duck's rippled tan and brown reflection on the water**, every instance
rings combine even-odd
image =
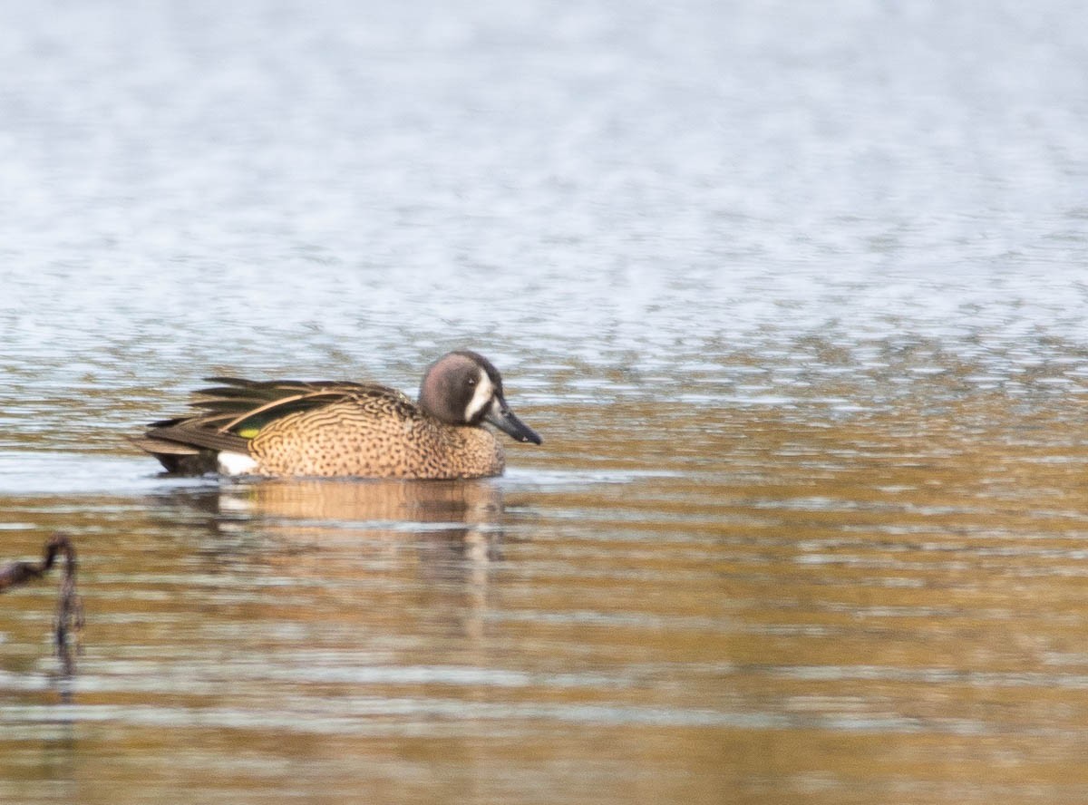
[[[330,586],[385,580],[375,600],[399,598],[461,633],[482,629],[503,540],[491,481],[269,480],[178,488],[162,503],[172,518],[206,515],[199,550],[221,571],[260,566]]]

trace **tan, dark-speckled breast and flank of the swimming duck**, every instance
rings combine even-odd
[[[254,437],[249,451],[264,475],[479,478],[505,466],[489,431],[445,424],[376,394],[279,419]]]

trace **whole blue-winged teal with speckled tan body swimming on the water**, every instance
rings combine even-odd
[[[514,416],[486,358],[444,355],[423,375],[419,404],[372,383],[209,377],[199,413],[152,423],[134,442],[170,472],[366,478],[502,474],[503,447],[541,437]]]

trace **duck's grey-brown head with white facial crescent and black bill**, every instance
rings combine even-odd
[[[518,442],[539,445],[543,441],[506,405],[498,370],[468,349],[447,352],[428,368],[419,389],[419,407],[447,424],[490,422]]]

